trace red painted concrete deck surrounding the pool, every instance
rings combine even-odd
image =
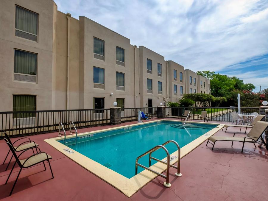
[[[135,123],[136,121],[121,125]],[[110,127],[114,126],[79,129],[78,133]],[[232,133],[239,130],[228,128],[228,131],[227,133],[219,131],[215,135],[232,136]],[[165,188],[163,186],[164,179],[156,177],[128,198],[43,141],[43,139],[56,136],[57,133],[29,136],[31,140],[39,144],[41,151],[47,152],[53,157],[51,166],[54,179],[52,179],[47,163],[47,171],[44,171],[43,164],[24,169],[10,197],[8,195],[19,168],[18,166],[15,167],[9,182],[5,185],[4,183],[14,161],[12,161],[9,169],[4,171],[8,162],[4,165],[2,165],[2,162],[8,147],[4,140],[0,141],[0,199],[80,201],[267,200],[268,152],[265,147],[255,149],[252,143],[247,143],[244,152],[241,153],[242,143],[239,142],[235,142],[233,147],[231,147],[231,142],[217,142],[213,151],[211,151],[212,145],[208,144],[207,147],[206,142],[204,142],[181,160],[182,177],[174,176],[175,169],[170,169],[171,188]],[[11,140],[15,141],[16,139]],[[29,152],[29,155],[32,155],[32,152]]]

